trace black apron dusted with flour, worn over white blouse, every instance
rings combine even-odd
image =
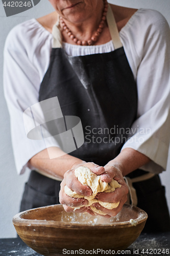
[[[50,66],[41,83],[39,101],[55,96],[63,116],[78,116],[82,122],[85,141],[70,153],[71,156],[104,166],[120,153],[127,139],[124,131],[131,128],[137,114],[137,87],[123,47],[109,53],[76,57],[67,56],[62,48],[53,48]],[[135,174],[137,172],[143,174],[144,171],[138,170]],[[154,190],[158,185],[161,187],[159,182],[153,182]],[[138,185],[135,186],[138,191]],[[59,181],[31,172],[21,210],[59,203],[59,190]],[[148,204],[153,201],[145,207],[145,203],[140,203],[142,194],[138,193],[138,196],[141,196],[138,206],[142,205],[141,208],[148,212]],[[156,217],[155,212],[154,215]],[[153,217],[150,219],[152,222]],[[157,221],[150,226],[151,231]],[[167,221],[163,226],[167,227]]]

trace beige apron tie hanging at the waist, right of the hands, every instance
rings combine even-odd
[[[144,180],[149,180],[149,179],[153,178],[154,176],[155,176],[155,174],[148,173],[148,174],[144,174],[144,175],[141,175],[141,176],[133,178],[133,179],[130,179],[129,177],[124,177],[124,179],[128,185],[128,188],[129,188],[129,195],[128,195],[127,203],[130,203],[130,200],[131,200],[131,205],[137,206],[136,189],[133,187],[133,183],[144,181]]]

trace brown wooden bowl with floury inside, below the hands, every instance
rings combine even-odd
[[[58,255],[66,250],[124,250],[139,237],[147,218],[146,212],[128,204],[110,219],[67,213],[58,204],[22,211],[13,217],[13,224],[32,249]]]

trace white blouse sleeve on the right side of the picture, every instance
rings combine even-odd
[[[170,31],[159,12],[149,10],[144,19],[142,12],[145,10],[138,11],[135,23],[132,18],[129,28],[121,32],[124,40],[129,30],[127,56],[134,52],[138,60],[136,71],[133,64],[131,67],[138,89],[137,119],[122,150],[130,147],[148,156],[151,162],[141,168],[160,173],[166,169],[170,134]],[[136,34],[130,33],[132,23]]]

